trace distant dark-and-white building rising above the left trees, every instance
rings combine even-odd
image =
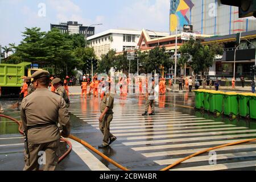
[[[51,24],[51,30],[52,28],[57,28],[60,30],[61,33],[69,33],[69,34],[81,34],[86,35],[87,30],[87,37],[92,36],[95,34],[95,27],[86,27],[82,26],[82,24],[79,24],[78,22],[67,22],[67,23],[60,23],[60,24]]]

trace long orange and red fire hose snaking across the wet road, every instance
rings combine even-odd
[[[18,120],[14,119],[14,118],[11,118],[11,117],[9,117],[9,116],[6,116],[6,115],[2,115],[2,114],[0,114],[0,117],[8,118],[8,119],[11,119],[11,121],[14,121],[14,122],[18,123],[18,125],[19,125],[19,133],[20,133],[20,134],[23,134],[23,131],[21,130],[21,127],[22,127],[22,126],[21,126],[21,123],[20,123]],[[118,163],[115,162],[114,160],[110,159],[108,156],[102,154],[100,151],[98,151],[96,148],[94,148],[94,147],[91,146],[89,143],[85,142],[84,140],[82,140],[82,139],[80,139],[80,138],[77,138],[77,137],[75,137],[75,136],[73,136],[73,135],[69,135],[68,138],[73,139],[73,140],[75,140],[76,142],[81,143],[83,146],[89,148],[90,150],[92,150],[92,151],[95,152],[96,154],[100,155],[103,159],[108,160],[108,162],[112,163],[114,166],[118,167],[119,169],[122,169],[123,171],[130,171],[130,169],[127,169],[126,167],[123,167],[121,164],[118,164]],[[66,143],[68,144],[69,149],[68,149],[67,152],[65,152],[65,154],[64,154],[63,156],[61,156],[61,157],[59,158],[59,162],[61,162],[61,160],[63,160],[63,159],[69,154],[69,152],[71,152],[71,150],[72,150],[72,145],[71,145],[71,143],[70,143],[68,140],[66,140],[66,139],[64,139],[64,138],[61,138],[61,140],[63,140],[64,142],[66,142]],[[196,152],[195,154],[189,155],[189,156],[187,156],[187,157],[185,157],[185,158],[183,158],[183,159],[177,160],[175,163],[171,164],[170,166],[167,166],[167,167],[165,167],[165,168],[163,168],[163,169],[160,169],[160,171],[167,171],[168,169],[171,169],[172,167],[177,166],[178,164],[184,162],[185,160],[191,159],[191,158],[193,158],[194,156],[197,156],[197,155],[200,155],[200,154],[204,154],[205,152],[209,152],[209,151],[212,151],[212,150],[216,150],[216,149],[218,149],[218,148],[223,148],[223,147],[228,147],[228,146],[234,146],[234,145],[236,145],[236,144],[247,143],[247,142],[253,142],[253,141],[255,141],[255,140],[256,140],[256,138],[254,138],[254,139],[246,139],[246,140],[241,140],[241,141],[239,141],[239,142],[228,143],[228,144],[223,144],[223,145],[221,145],[221,146],[211,147],[211,148],[208,148],[208,149],[206,149],[206,150]]]

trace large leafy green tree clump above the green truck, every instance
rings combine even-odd
[[[8,57],[7,63],[27,61],[41,68],[52,68],[55,75],[64,77],[75,74],[75,68],[86,71],[85,63],[96,57],[93,48],[84,48],[83,35],[62,34],[58,29],[42,32],[34,27],[26,28],[23,37],[18,46],[10,44],[15,53]]]

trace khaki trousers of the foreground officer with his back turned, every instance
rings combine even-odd
[[[54,171],[59,160],[59,146],[60,140],[41,144],[28,143],[30,159],[28,159],[28,155],[26,151],[24,151],[25,166],[23,171],[38,171],[40,166],[39,162],[44,164],[44,171]],[[43,152],[45,158],[40,154]]]

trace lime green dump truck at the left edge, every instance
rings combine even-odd
[[[31,63],[0,64],[0,87],[2,96],[18,95],[23,85],[23,76],[31,76],[39,69],[31,68]]]

